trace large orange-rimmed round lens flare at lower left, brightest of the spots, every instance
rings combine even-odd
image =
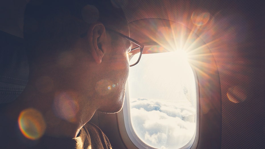
[[[19,115],[18,123],[22,134],[30,140],[42,137],[46,129],[42,114],[33,108],[23,110]]]

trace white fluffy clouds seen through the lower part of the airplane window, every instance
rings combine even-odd
[[[180,148],[194,134],[196,111],[189,102],[134,99],[130,107],[133,130],[152,147]]]

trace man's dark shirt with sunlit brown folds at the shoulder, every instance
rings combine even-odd
[[[0,109],[0,148],[105,149],[112,147],[106,135],[92,123],[85,124],[76,138],[44,135],[38,140],[27,139],[19,129],[18,121],[3,114]]]

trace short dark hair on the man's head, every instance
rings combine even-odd
[[[24,13],[24,40],[29,63],[68,50],[100,21],[109,28],[127,28],[124,12],[110,0],[32,0]]]

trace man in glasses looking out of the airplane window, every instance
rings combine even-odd
[[[16,101],[1,107],[1,146],[111,148],[87,122],[95,111],[116,113],[123,106],[131,42],[120,34],[129,36],[129,28],[116,6],[96,0],[27,4],[29,81]]]

